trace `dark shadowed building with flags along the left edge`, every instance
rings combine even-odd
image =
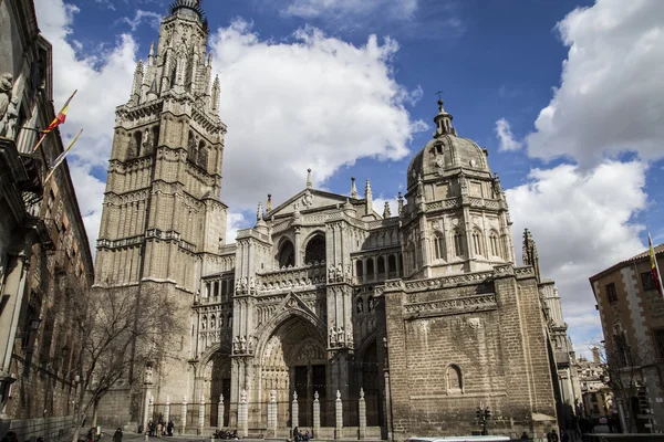
[[[69,432],[75,399],[73,291],[93,281],[87,236],[58,130],[52,50],[32,1],[0,3],[0,434],[19,440]]]

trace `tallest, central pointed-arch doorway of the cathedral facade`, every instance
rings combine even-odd
[[[270,401],[274,390],[279,425],[292,425],[293,392],[298,393],[298,423],[313,425],[313,400],[318,392],[321,424],[326,420],[326,349],[321,332],[309,320],[292,315],[283,320],[268,338],[260,359],[261,398]]]

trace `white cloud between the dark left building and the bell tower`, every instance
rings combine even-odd
[[[72,155],[68,157],[72,179],[79,197],[83,221],[94,253],[98,234],[104,183],[92,175],[93,167],[106,168],[111,154],[115,106],[128,98],[134,67],[136,43],[123,34],[115,44],[100,55],[76,53],[75,42],[68,41],[79,8],[62,0],[35,0],[39,27],[53,45],[53,88],[56,109],[74,90],[66,123],[61,126],[63,137],[84,128]]]

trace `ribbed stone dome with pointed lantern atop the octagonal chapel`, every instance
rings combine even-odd
[[[487,162],[487,151],[474,140],[457,136],[452,127],[452,115],[443,108],[443,101],[438,101],[439,112],[434,118],[436,131],[434,138],[419,150],[408,166],[408,188],[417,183],[417,177],[426,179],[428,176],[442,176],[448,170],[464,168],[474,173],[486,173],[491,177]]]

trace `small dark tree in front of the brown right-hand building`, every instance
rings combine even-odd
[[[629,344],[623,332],[618,332],[603,341],[603,365],[609,379],[602,379],[611,387],[614,400],[618,402],[619,414],[623,418],[623,431],[636,430],[634,401],[645,383],[645,370],[652,367],[652,356],[647,343]]]

